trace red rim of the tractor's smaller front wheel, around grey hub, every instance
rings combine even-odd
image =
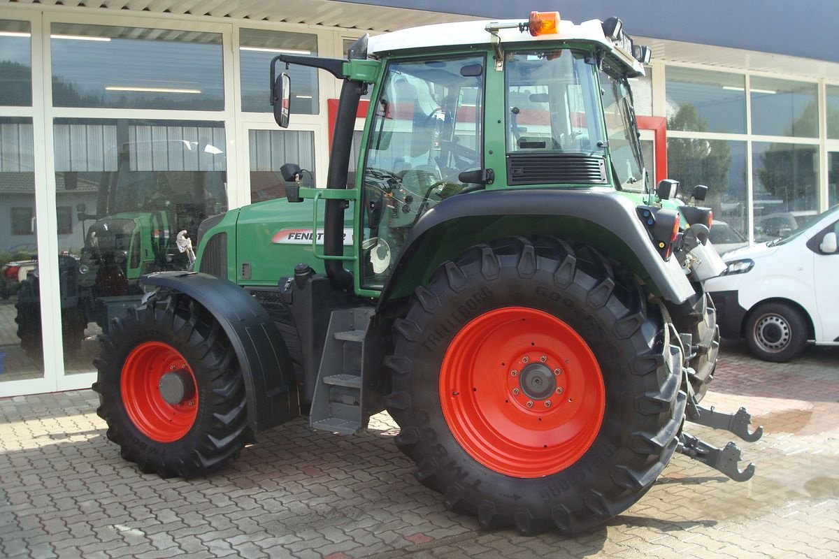
[[[161,379],[169,372],[177,372],[186,380],[186,397],[176,404],[164,400],[160,392]],[[177,441],[195,423],[198,415],[195,374],[184,356],[169,344],[143,342],[132,349],[122,365],[120,388],[128,417],[143,435],[154,441]]]

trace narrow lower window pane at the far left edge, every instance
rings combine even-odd
[[[0,383],[44,376],[30,118],[0,117]]]

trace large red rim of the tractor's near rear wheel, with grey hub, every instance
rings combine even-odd
[[[606,390],[597,359],[571,326],[508,307],[472,319],[451,341],[440,404],[472,458],[501,474],[539,478],[591,447]]]

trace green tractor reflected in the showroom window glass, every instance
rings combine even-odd
[[[128,127],[120,127],[128,136]],[[212,170],[155,172],[138,169],[137,153],[164,153],[187,160],[197,142],[121,142],[117,169],[87,173],[98,179],[96,213],[86,204],[76,206],[86,229],[80,254],[59,255],[61,323],[65,355],[81,347],[88,323],[107,331],[113,318],[140,303],[140,277],[162,271],[185,270],[195,255],[190,236],[208,215],[227,210],[221,173]],[[181,163],[183,166],[183,163]],[[66,173],[65,184],[77,183],[78,173]],[[73,188],[69,188],[73,189]],[[191,256],[190,256],[191,255]],[[37,267],[20,283],[16,303],[18,338],[34,359],[41,356],[41,311]]]

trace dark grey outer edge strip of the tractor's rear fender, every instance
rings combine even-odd
[[[674,267],[674,262],[664,261],[655,250],[635,213],[635,205],[623,195],[597,189],[509,189],[452,196],[425,212],[405,241],[380,301],[390,298],[391,291],[399,285],[400,278],[424,246],[424,237],[435,228],[469,217],[510,215],[528,216],[532,223],[541,218],[564,217],[590,221],[626,244],[666,301],[679,304],[694,294],[678,263]]]

